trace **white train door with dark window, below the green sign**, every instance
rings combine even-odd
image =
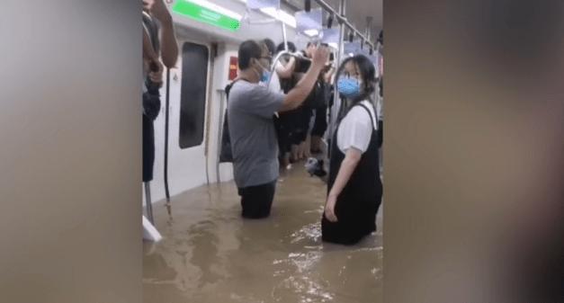
[[[168,125],[168,185],[170,195],[207,182],[206,129],[213,56],[210,44],[187,40],[179,42],[179,58],[171,69]],[[155,123],[155,182],[153,201],[165,199],[165,88],[161,92],[162,111]]]

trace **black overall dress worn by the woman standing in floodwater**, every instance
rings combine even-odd
[[[372,114],[368,108],[363,104],[355,106],[362,106],[364,110],[368,111],[373,125]],[[336,134],[337,131],[333,136],[331,147],[332,156],[327,192],[331,191],[336,175],[345,159],[345,154],[337,147]],[[378,131],[372,129],[372,137],[368,149],[363,153],[343,192],[336,199],[335,214],[338,221],[335,223],[330,222],[325,217],[325,212],[323,214],[321,219],[323,241],[341,245],[354,245],[363,236],[368,236],[376,231],[376,213],[380,207],[382,197],[378,141]]]

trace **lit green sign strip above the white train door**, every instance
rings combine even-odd
[[[185,0],[177,1],[173,11],[196,21],[209,23],[228,31],[237,31],[241,25],[237,19]]]

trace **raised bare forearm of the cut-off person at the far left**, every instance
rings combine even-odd
[[[164,0],[155,0],[151,13],[161,22],[161,57],[163,64],[172,68],[175,67],[178,59],[178,43],[175,38],[175,25],[173,17],[166,9]]]

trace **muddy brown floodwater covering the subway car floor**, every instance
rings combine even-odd
[[[144,243],[144,302],[381,302],[381,232],[323,244],[324,184],[294,169],[277,186],[263,220],[239,217],[233,183],[174,197],[170,215],[157,204],[164,239]]]

